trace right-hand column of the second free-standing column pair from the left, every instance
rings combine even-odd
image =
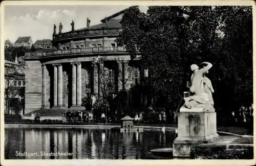
[[[77,62],[77,91],[76,91],[76,105],[82,105],[82,67],[81,63]]]

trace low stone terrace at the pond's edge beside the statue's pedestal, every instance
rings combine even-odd
[[[219,132],[225,133],[225,132]],[[152,156],[171,158],[173,148],[151,150]],[[253,159],[253,136],[222,135],[218,140],[209,144],[201,144],[195,148],[195,159]],[[187,158],[187,159],[191,159]],[[183,158],[184,159],[184,158]]]

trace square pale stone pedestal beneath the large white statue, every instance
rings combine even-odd
[[[192,109],[181,107],[178,115],[178,137],[174,140],[174,157],[191,157],[199,144],[217,139],[216,112],[212,106]]]

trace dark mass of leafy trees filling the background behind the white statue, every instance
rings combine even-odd
[[[121,25],[117,42],[132,58],[141,55],[166,110],[177,109],[189,66],[202,61],[214,64],[208,77],[217,110],[252,102],[251,7],[151,6],[146,15],[131,7]]]

